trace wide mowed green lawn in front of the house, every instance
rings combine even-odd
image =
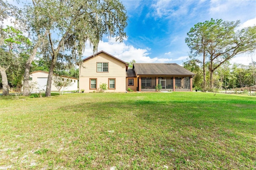
[[[255,169],[256,97],[0,97],[0,168]]]

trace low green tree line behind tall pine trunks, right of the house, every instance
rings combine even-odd
[[[186,69],[193,71],[196,75],[193,77],[193,88],[201,91],[216,91],[222,89],[234,89],[243,87],[252,87],[256,89],[256,62],[253,61],[249,65],[239,63],[230,64],[226,62],[222,64],[213,74],[214,89],[210,89],[210,70],[209,63],[206,63],[206,86],[204,84],[204,74],[202,63],[197,59],[190,59],[183,62]],[[204,88],[206,87],[206,88]]]

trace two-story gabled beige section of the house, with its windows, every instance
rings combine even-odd
[[[104,51],[91,55],[79,66],[79,90],[98,92],[100,84],[106,83],[105,92],[125,92],[127,68],[128,63]]]

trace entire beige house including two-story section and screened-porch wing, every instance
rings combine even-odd
[[[79,66],[79,90],[98,92],[106,83],[105,92],[156,91],[158,84],[162,91],[192,91],[194,75],[176,63],[134,63],[128,69],[125,61],[100,51]]]

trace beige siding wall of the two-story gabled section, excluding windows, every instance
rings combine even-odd
[[[97,63],[108,63],[108,72],[97,72]],[[97,78],[97,89],[90,89],[90,78]],[[115,89],[108,89],[106,92],[126,91],[126,64],[107,55],[99,53],[95,57],[85,60],[80,66],[79,89],[84,92],[97,92],[101,83],[109,85],[108,79],[116,79]]]

